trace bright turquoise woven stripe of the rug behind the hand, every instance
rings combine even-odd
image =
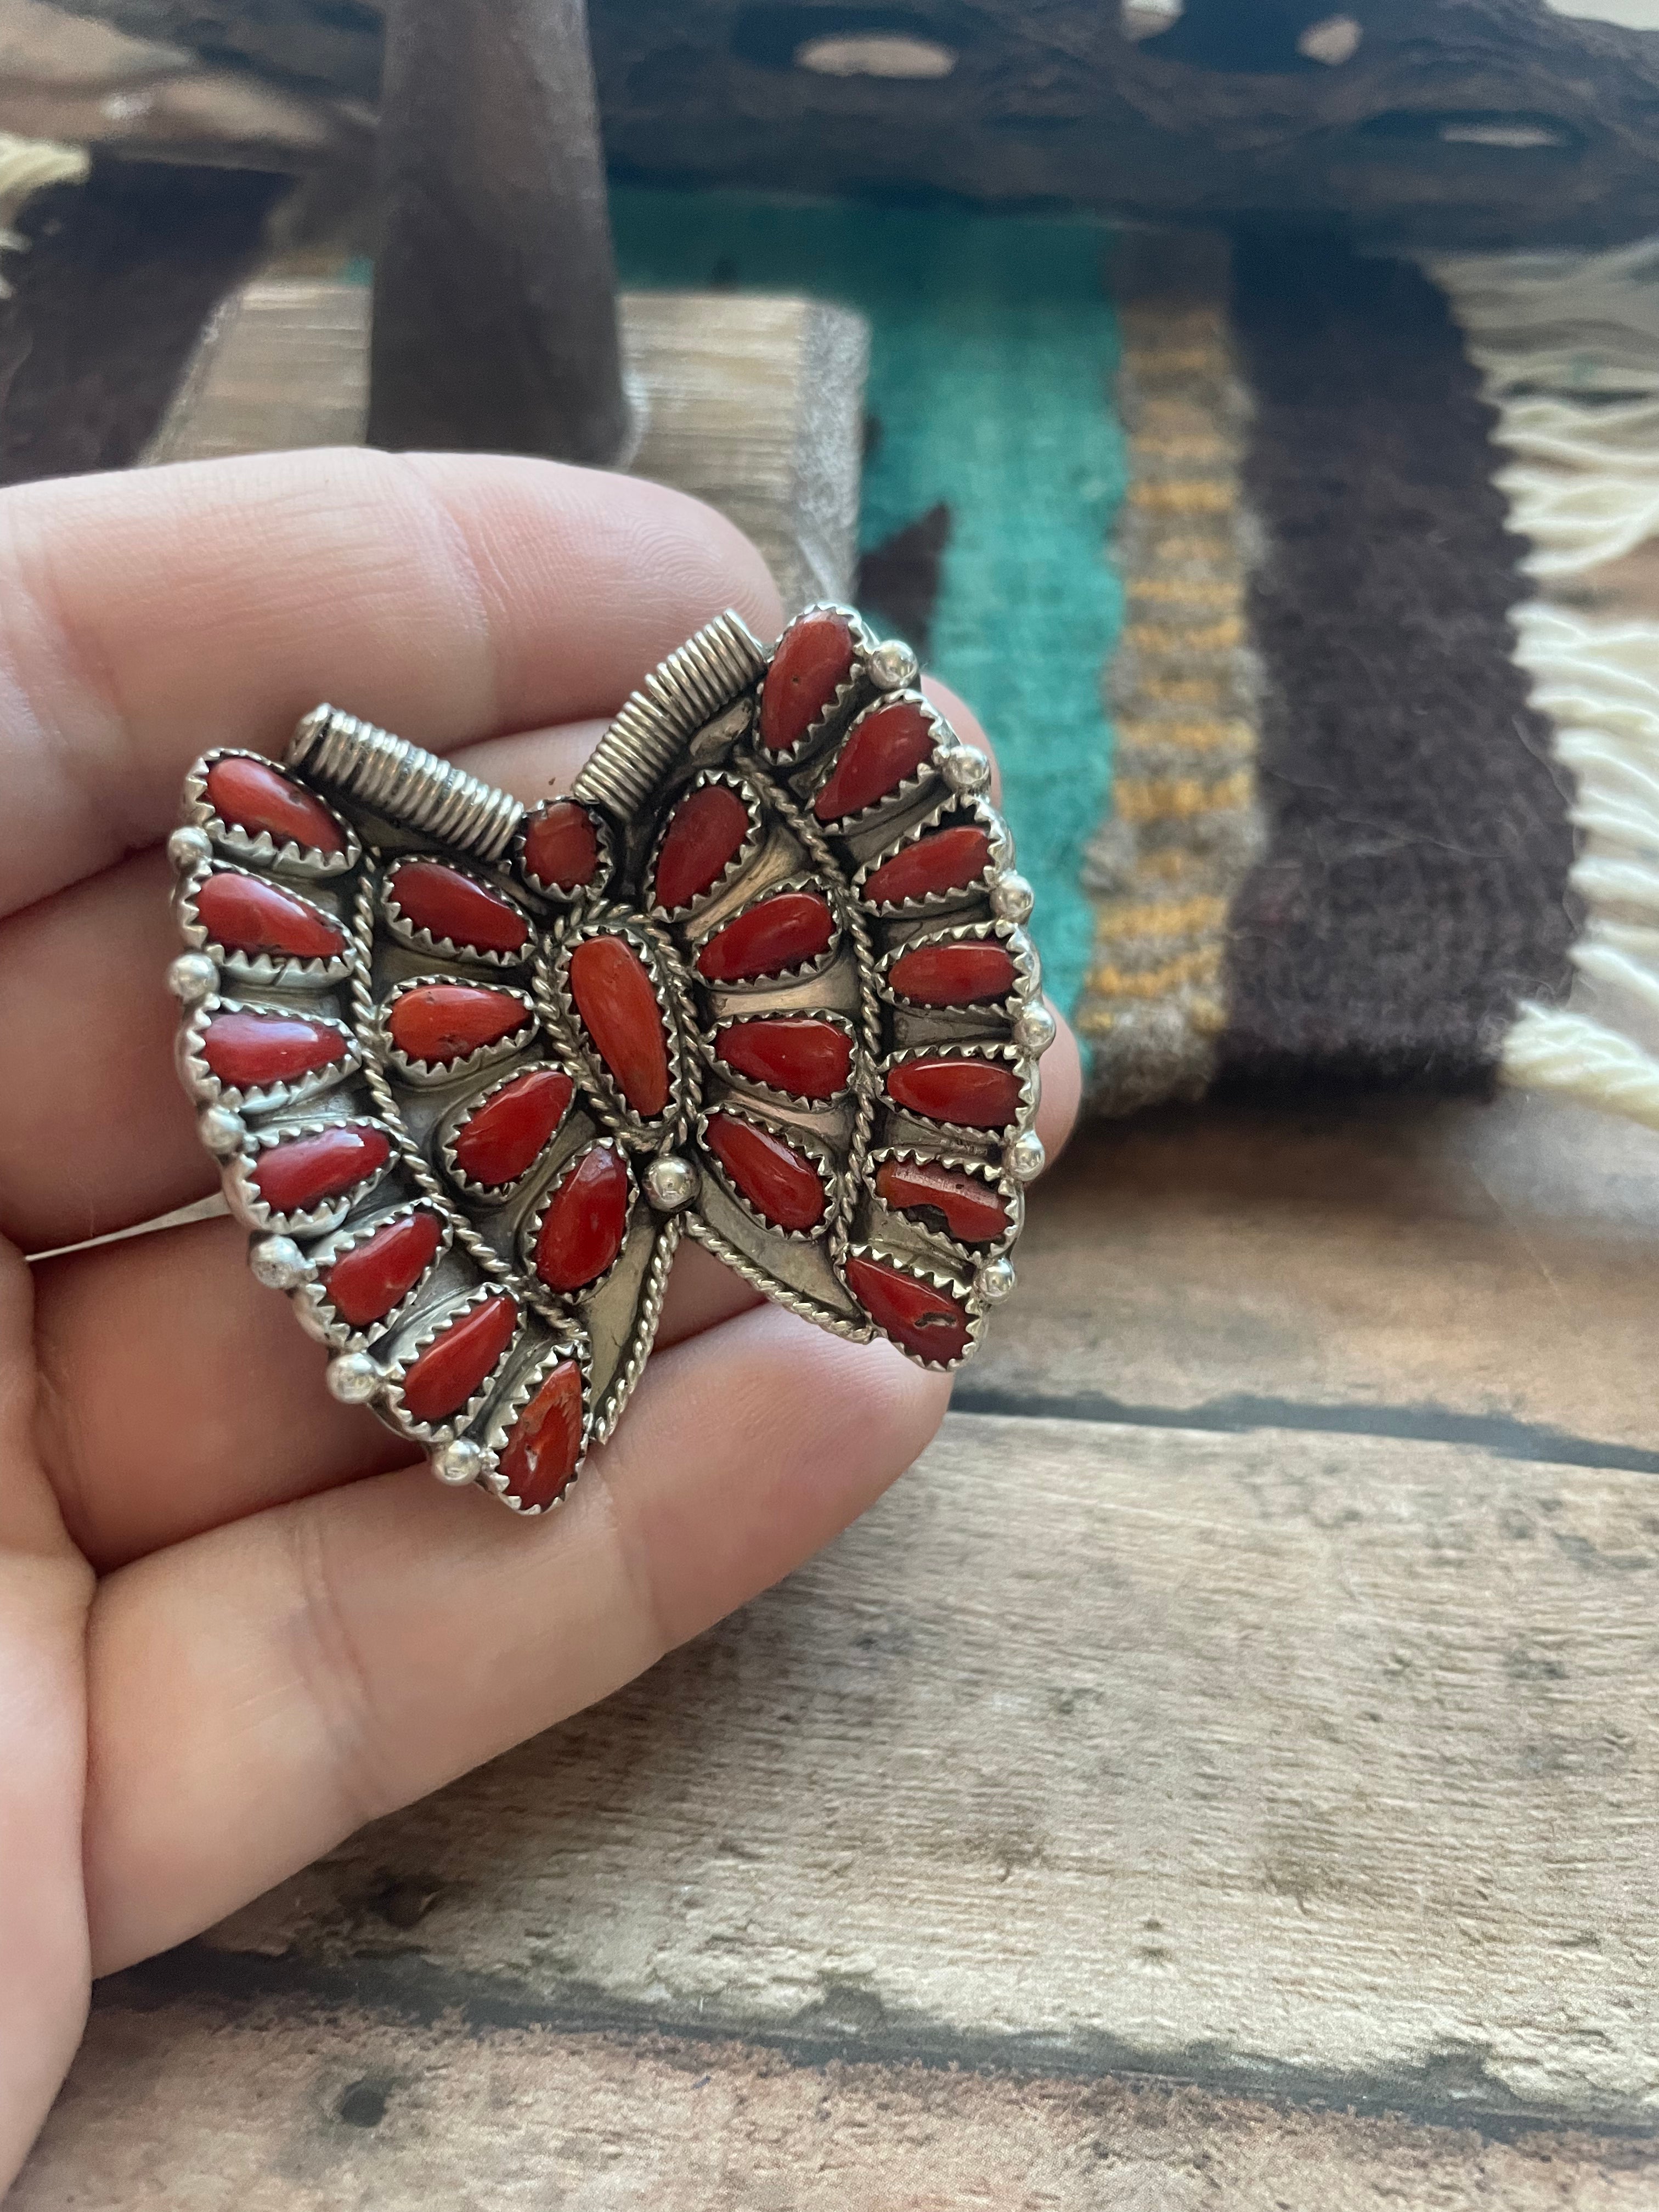
[[[810,292],[869,319],[880,436],[860,542],[951,509],[929,664],[995,737],[1048,989],[1073,1006],[1093,938],[1077,872],[1110,787],[1102,670],[1121,622],[1106,557],[1124,487],[1106,232],[628,186],[611,217],[630,288]]]

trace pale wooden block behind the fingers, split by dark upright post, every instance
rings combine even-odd
[[[690,491],[759,544],[785,606],[847,597],[869,336],[843,307],[734,292],[630,292],[622,343],[641,403],[637,476]],[[356,445],[369,292],[261,279],[230,301],[150,460]]]

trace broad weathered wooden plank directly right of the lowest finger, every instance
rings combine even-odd
[[[1646,2128],[1657,1526],[1650,1478],[1473,1447],[951,1416],[790,1584],[159,1989],[310,1960],[482,2017]]]

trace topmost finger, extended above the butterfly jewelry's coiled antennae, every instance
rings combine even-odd
[[[712,509],[542,460],[252,453],[0,498],[0,885],[15,911],[153,845],[206,745],[334,699],[449,750],[613,712],[721,608],[770,637]]]

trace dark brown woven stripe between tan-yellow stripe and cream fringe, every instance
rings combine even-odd
[[[1573,938],[1491,409],[1416,268],[1254,234],[1234,285],[1267,845],[1232,914],[1219,1082],[1467,1088],[1515,1000],[1564,989]]]

